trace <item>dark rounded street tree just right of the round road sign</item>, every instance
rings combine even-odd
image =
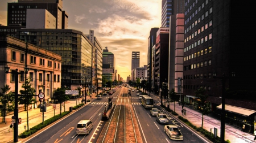
[[[65,90],[66,88],[57,88],[54,93],[53,96],[60,101],[60,115],[61,115],[61,109],[62,109],[62,102],[64,102],[64,112],[65,112],[65,101],[68,101],[70,98],[70,95],[65,94]]]

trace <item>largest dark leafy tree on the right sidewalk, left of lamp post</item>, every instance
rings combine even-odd
[[[197,89],[195,92],[195,96],[197,100],[194,102],[194,108],[201,111],[202,114],[202,124],[201,128],[203,128],[204,123],[204,115],[208,115],[210,113],[210,102],[207,101],[208,95],[204,93],[204,87]]]

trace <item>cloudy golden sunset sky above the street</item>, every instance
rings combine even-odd
[[[0,1],[0,24],[7,24],[7,2]],[[126,80],[131,75],[131,51],[141,52],[140,66],[147,64],[150,29],[161,26],[162,0],[63,0],[69,29],[94,36],[115,56],[115,70]]]

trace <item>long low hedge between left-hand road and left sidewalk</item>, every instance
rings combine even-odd
[[[83,105],[84,105],[84,103],[82,103],[80,105],[77,105],[77,106],[74,106],[73,110],[79,109],[79,107],[81,107]],[[44,124],[40,123],[40,124],[35,125],[34,127],[30,128],[30,130],[24,131],[23,133],[20,133],[19,138],[26,138],[28,136],[31,136],[35,132],[38,132],[40,129],[43,129],[44,127],[46,127],[47,125],[49,125],[49,124],[51,124],[53,122],[56,122],[56,120],[59,120],[59,119],[63,118],[63,116],[68,115],[69,113],[70,113],[70,111],[65,111],[65,112],[62,112],[61,115],[60,114],[59,115],[55,115],[52,118],[50,118],[48,120],[45,120]]]

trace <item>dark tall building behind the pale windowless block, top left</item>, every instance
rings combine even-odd
[[[48,23],[49,25],[54,25],[56,29],[68,28],[68,14],[62,10],[63,0],[18,0],[18,2],[8,3],[7,25],[26,26],[27,9],[47,10],[56,18],[53,23]]]

